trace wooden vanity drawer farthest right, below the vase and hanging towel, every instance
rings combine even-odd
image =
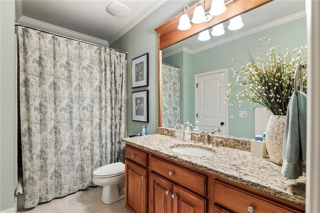
[[[235,212],[249,212],[249,206],[254,208],[254,213],[292,212],[218,182],[214,182],[214,202]]]

